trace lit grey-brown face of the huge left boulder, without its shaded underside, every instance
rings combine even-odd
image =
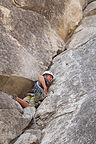
[[[38,72],[42,72],[42,70],[50,65],[52,57],[57,54],[58,48],[63,50],[63,41],[56,35],[55,31],[51,29],[50,23],[43,16],[32,11],[6,7],[7,4],[0,6],[0,21],[2,24],[0,50],[2,57],[4,60],[6,58],[7,61],[10,59],[11,62],[9,63],[13,61],[15,61],[15,63],[17,62],[17,65],[14,64],[13,69],[10,67],[12,71],[9,70],[9,74],[17,74],[36,80]],[[12,56],[8,53],[9,49]],[[16,54],[13,51],[16,51]],[[7,55],[9,54],[8,58],[6,53]],[[48,55],[46,55],[46,53]],[[16,70],[16,67],[18,70]],[[2,71],[1,73],[4,74]],[[33,74],[34,71],[35,74]]]

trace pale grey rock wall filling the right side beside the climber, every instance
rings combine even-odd
[[[56,76],[53,90],[37,110],[43,135],[41,144],[96,142],[95,17],[84,18],[69,49],[53,61],[51,70]]]

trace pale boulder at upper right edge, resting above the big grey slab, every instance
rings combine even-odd
[[[92,5],[94,5],[93,8]],[[74,31],[68,49],[77,49],[89,43],[96,36],[96,15],[91,14],[88,16],[88,14],[95,9],[96,2],[89,4],[85,9],[85,17],[82,20],[81,25]]]

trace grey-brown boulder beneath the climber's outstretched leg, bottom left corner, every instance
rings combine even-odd
[[[9,144],[28,126],[33,117],[33,109],[26,109],[23,110],[19,103],[0,92],[0,144]]]

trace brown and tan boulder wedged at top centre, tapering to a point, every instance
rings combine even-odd
[[[82,19],[79,0],[10,0],[19,8],[30,9],[44,15],[52,28],[65,40]]]

